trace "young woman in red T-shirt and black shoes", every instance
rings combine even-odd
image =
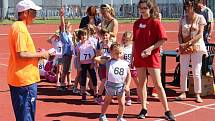
[[[160,21],[156,18],[155,4],[150,0],[140,0],[138,3],[141,18],[136,20],[133,26],[133,65],[137,69],[142,110],[138,118],[147,115],[147,71],[150,73],[158,96],[165,109],[165,117],[175,121],[175,117],[169,110],[166,94],[161,84],[160,77],[160,46],[167,40],[167,36]]]

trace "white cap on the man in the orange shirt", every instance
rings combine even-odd
[[[22,0],[16,5],[16,12],[18,13],[29,9],[41,10],[42,8],[31,0]]]

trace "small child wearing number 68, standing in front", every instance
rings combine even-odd
[[[100,121],[107,121],[106,110],[110,104],[112,97],[117,96],[119,109],[117,121],[125,121],[123,114],[125,110],[125,90],[129,90],[129,84],[131,81],[131,73],[129,64],[127,61],[122,60],[122,47],[120,44],[112,44],[110,47],[111,59],[106,63],[107,66],[107,80],[105,83],[105,102],[102,105],[101,114],[99,116]],[[96,61],[104,63],[101,58],[95,58]],[[107,60],[107,59],[106,59]]]

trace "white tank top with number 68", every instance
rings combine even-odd
[[[113,83],[125,83],[129,70],[128,62],[125,60],[110,60],[108,62],[108,79]]]

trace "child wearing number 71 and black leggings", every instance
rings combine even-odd
[[[78,48],[78,61],[81,64],[81,93],[82,99],[81,101],[86,101],[86,80],[87,80],[87,71],[92,78],[93,88],[94,88],[94,98],[97,94],[97,78],[96,72],[94,69],[93,59],[95,57],[95,48],[89,42],[87,31],[84,29],[80,29],[78,31],[78,39],[81,41],[80,47]]]

